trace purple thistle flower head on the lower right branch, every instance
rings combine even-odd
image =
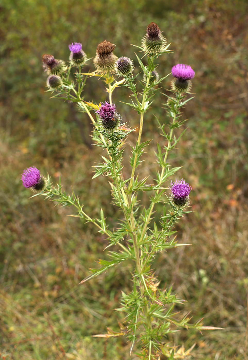
[[[191,186],[189,186],[184,179],[179,181],[171,181],[171,202],[172,204],[179,209],[182,209],[189,205],[189,194],[192,190]]]

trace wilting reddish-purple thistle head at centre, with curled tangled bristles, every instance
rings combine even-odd
[[[115,132],[119,129],[121,116],[115,111],[116,106],[107,101],[101,103],[101,107],[96,111],[98,114],[100,125],[108,132]]]

